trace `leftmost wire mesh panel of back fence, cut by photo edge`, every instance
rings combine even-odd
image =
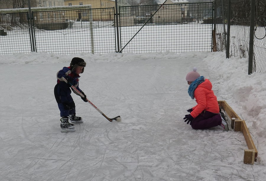
[[[0,54],[32,52],[28,14],[0,14]]]

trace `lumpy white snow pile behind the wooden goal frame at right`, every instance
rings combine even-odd
[[[218,56],[220,55],[220,56]],[[222,52],[210,53],[205,62],[210,69],[218,73],[219,79],[215,86],[223,94],[217,95],[233,108],[241,116],[250,133],[258,142],[258,158],[262,164],[266,164],[266,75],[252,73],[248,75],[248,59],[231,57],[226,59]],[[227,94],[224,94],[226,92]]]

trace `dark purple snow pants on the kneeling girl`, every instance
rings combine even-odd
[[[202,111],[191,124],[193,129],[206,129],[221,125],[222,118],[220,114],[211,113],[209,111]]]

